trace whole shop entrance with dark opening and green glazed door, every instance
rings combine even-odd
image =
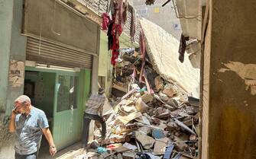
[[[44,110],[58,150],[78,142],[81,136],[79,75],[80,72],[50,68],[28,67],[25,71],[24,94],[31,97],[34,107]],[[48,148],[43,135],[40,153]]]

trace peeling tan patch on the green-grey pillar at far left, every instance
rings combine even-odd
[[[21,87],[24,83],[24,62],[11,60],[9,82],[11,87]]]

